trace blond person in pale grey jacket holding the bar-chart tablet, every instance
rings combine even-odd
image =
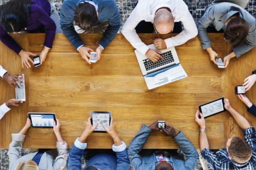
[[[28,118],[22,130],[19,133],[12,134],[12,142],[9,145],[8,151],[9,170],[63,170],[67,163],[68,147],[61,137],[61,124],[58,119],[56,119],[56,123],[55,121],[53,122],[53,131],[57,138],[58,156],[54,159],[54,155],[56,155],[55,149],[45,152],[39,149],[38,152],[20,157],[20,149],[22,148],[26,131],[31,126],[31,121]]]

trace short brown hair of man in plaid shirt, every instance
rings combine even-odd
[[[250,145],[239,137],[233,137],[230,147],[228,147],[228,153],[233,161],[239,164],[243,164],[250,160],[252,156],[252,148]]]

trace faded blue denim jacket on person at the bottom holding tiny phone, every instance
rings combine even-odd
[[[128,157],[131,166],[135,170],[155,170],[155,162],[157,161],[154,154],[141,156],[139,153],[142,150],[143,144],[148,139],[151,129],[146,125],[142,125],[139,133],[134,137],[128,147]],[[186,139],[181,131],[173,138],[180,149],[186,156],[186,160],[180,156],[172,156],[170,162],[174,170],[194,170],[198,162],[198,153],[193,144]]]

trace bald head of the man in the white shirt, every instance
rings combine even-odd
[[[172,13],[166,9],[160,9],[154,16],[154,26],[160,34],[168,34],[174,26]]]

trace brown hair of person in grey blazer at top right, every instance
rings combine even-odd
[[[244,43],[249,33],[249,24],[240,17],[231,18],[224,29],[224,38],[229,41],[232,48]]]

